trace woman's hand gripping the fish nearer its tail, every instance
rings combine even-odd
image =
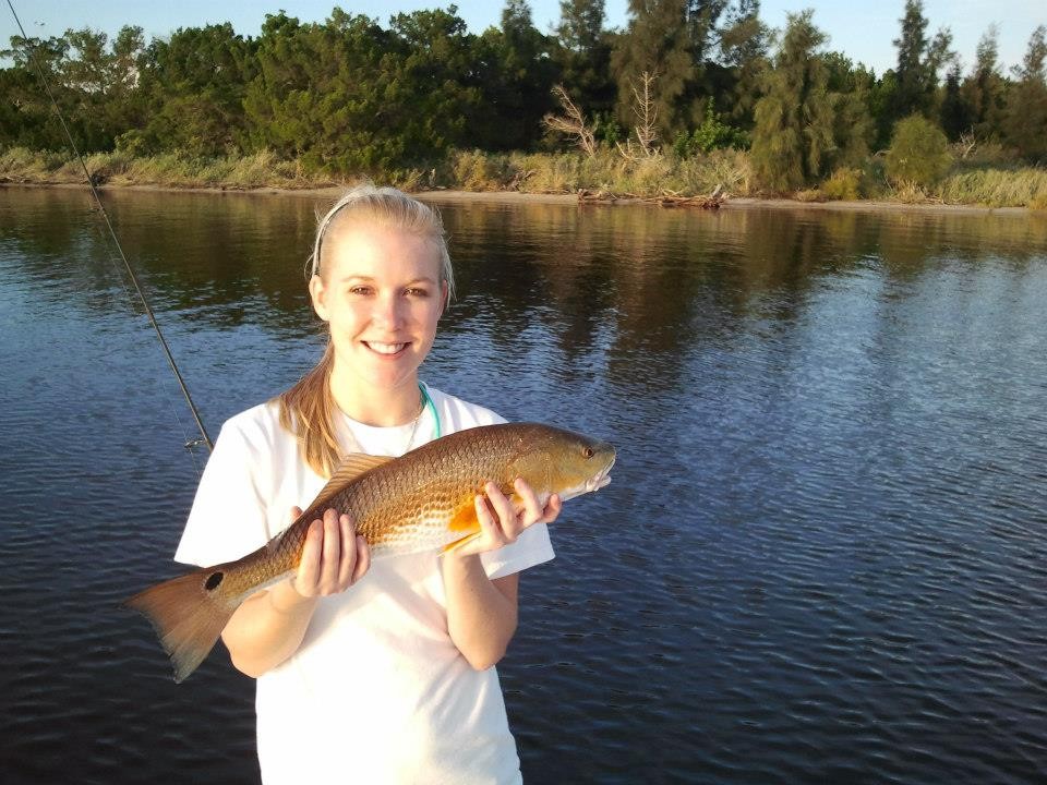
[[[294,507],[291,515],[297,519],[302,510]],[[357,534],[352,517],[328,509],[323,519],[310,523],[291,585],[303,597],[328,596],[359,581],[370,566],[371,550]]]

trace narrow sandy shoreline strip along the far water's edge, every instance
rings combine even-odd
[[[84,183],[39,183],[39,182],[0,182],[0,188],[4,189],[59,189],[59,190],[82,190],[86,191]],[[121,192],[121,191],[145,191],[155,193],[205,193],[217,195],[274,195],[274,196],[322,196],[337,198],[337,196],[349,188],[346,185],[327,185],[322,188],[218,188],[212,185],[202,186],[179,186],[160,184],[127,184],[110,185],[103,184],[97,186],[100,192]],[[609,202],[590,202],[579,204],[577,194],[574,193],[529,193],[524,191],[456,191],[456,190],[428,190],[412,191],[411,194],[423,201],[431,202],[474,202],[489,204],[561,204],[579,205],[586,208],[592,207],[615,207],[622,206],[655,206],[642,198],[623,197]],[[698,207],[659,207],[659,209],[676,210],[700,210],[715,212],[714,209],[702,209]],[[906,202],[883,202],[875,200],[858,201],[826,201],[826,202],[805,202],[789,198],[761,198],[755,196],[729,196],[720,205],[719,209],[798,209],[798,210],[828,210],[838,213],[930,213],[930,214],[967,214],[967,215],[998,215],[998,216],[1033,216],[1043,214],[1043,210],[1033,210],[1028,207],[989,207],[985,205],[964,205],[964,204],[940,204],[940,203],[906,203]]]

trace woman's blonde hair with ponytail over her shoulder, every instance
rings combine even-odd
[[[440,282],[446,286],[450,300],[455,279],[447,252],[447,240],[440,214],[432,207],[392,188],[357,185],[339,198],[316,226],[316,239],[310,257],[311,276],[323,276],[330,259],[330,244],[325,244],[333,227],[349,221],[411,232],[433,242],[440,254]],[[293,387],[277,397],[280,425],[294,434],[298,448],[309,467],[321,476],[330,476],[340,462],[341,448],[335,431],[335,399],[330,391],[330,372],[335,350],[327,347],[320,362]]]

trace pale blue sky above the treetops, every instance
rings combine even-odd
[[[312,0],[177,0],[143,3],[141,0],[13,0],[15,10],[29,35],[60,35],[67,27],[89,26],[115,33],[124,24],[140,25],[146,34],[163,36],[177,27],[202,26],[231,22],[238,33],[257,35],[265,13],[284,8],[303,21],[326,19],[335,2]],[[397,11],[446,7],[440,0],[342,0],[342,9],[376,17],[382,24]],[[473,32],[495,25],[503,7],[501,0],[460,0],[459,15]],[[857,8],[856,8],[857,7]],[[607,24],[626,24],[626,0],[606,0]],[[845,52],[852,60],[864,62],[877,74],[892,68],[895,50],[891,41],[899,33],[904,0],[880,0],[874,3],[851,3],[845,0],[763,0],[761,16],[768,24],[781,27],[787,12],[815,9],[815,24],[829,35],[829,47]],[[535,25],[547,31],[559,17],[558,0],[531,0]],[[952,29],[953,47],[960,52],[965,69],[974,62],[978,38],[990,23],[1000,31],[1000,60],[1004,69],[1018,64],[1025,53],[1028,37],[1038,24],[1047,24],[1044,0],[926,0],[924,13],[931,33],[946,26]],[[0,41],[8,46],[16,32],[7,3],[0,3]]]

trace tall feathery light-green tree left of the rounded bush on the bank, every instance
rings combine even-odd
[[[814,12],[789,14],[774,68],[756,104],[753,169],[761,186],[791,191],[818,178],[834,147],[829,74],[817,50],[825,34]]]

